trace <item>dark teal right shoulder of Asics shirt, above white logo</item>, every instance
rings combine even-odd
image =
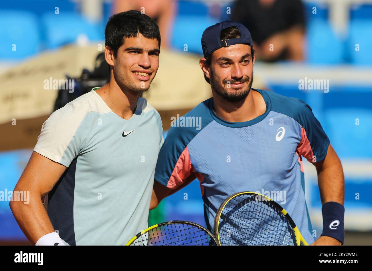
[[[311,107],[303,100],[288,97],[269,90],[259,90],[270,98],[271,111],[285,114],[298,120],[301,116],[312,114]]]

